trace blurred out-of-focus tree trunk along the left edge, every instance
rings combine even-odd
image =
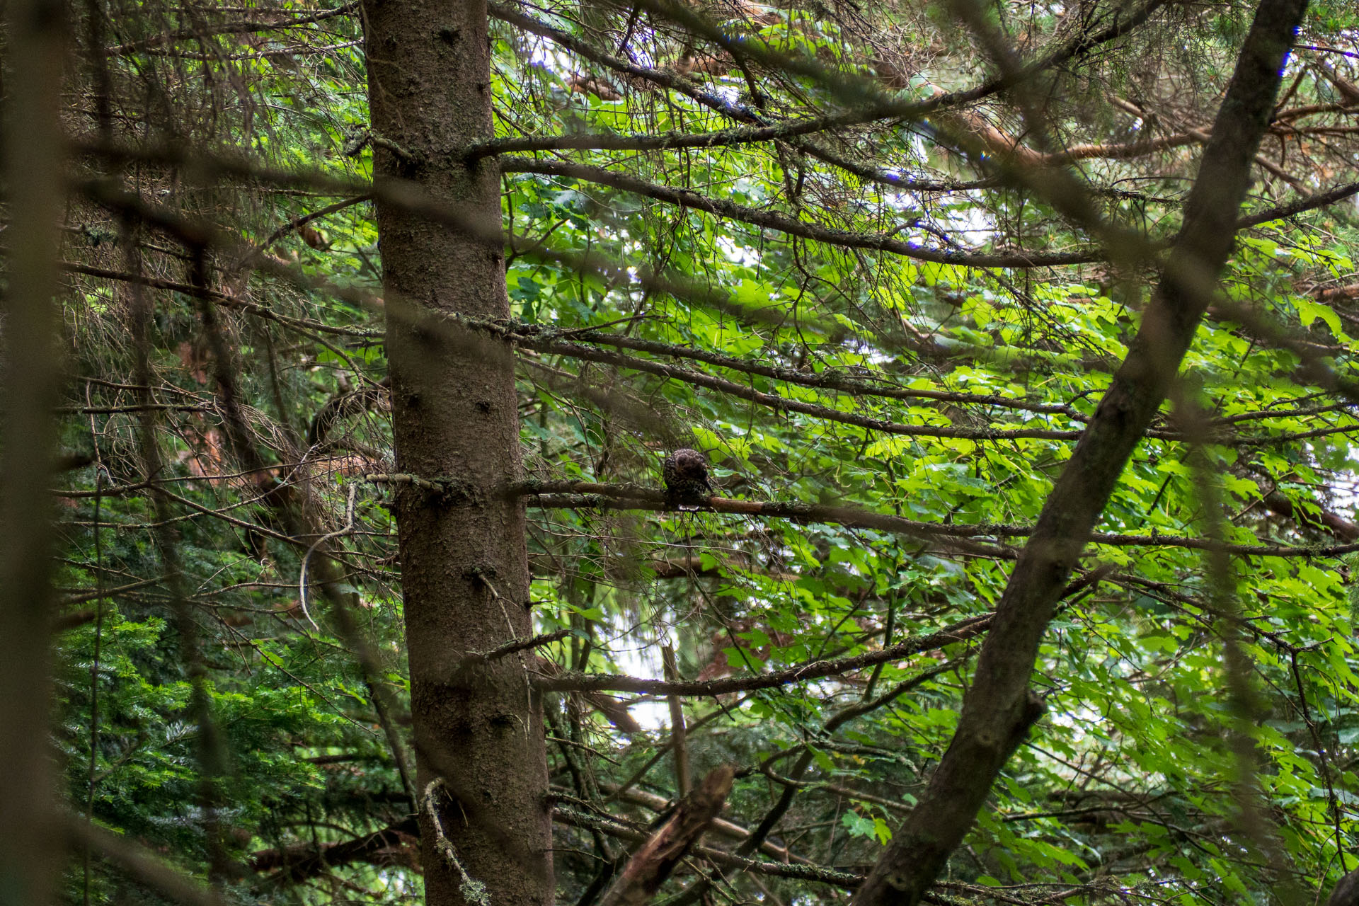
[[[58,0],[4,11],[4,201],[0,293],[0,903],[52,901],[61,842],[50,748],[49,642],[56,532],[48,496],[60,399],[61,223]]]

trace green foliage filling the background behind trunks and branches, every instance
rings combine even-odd
[[[728,105],[762,105],[768,118],[839,109],[844,83],[822,77],[826,68],[870,79],[848,83],[864,94],[966,88],[989,64],[946,7],[833,15],[819,3],[794,4],[760,8],[758,20],[724,7],[718,22],[756,60],[752,73],[731,61],[711,72],[689,67],[685,84]],[[622,41],[636,60],[667,71],[696,45],[720,56],[648,16],[629,24],[628,11],[594,10],[603,24],[593,26],[591,11],[573,5],[525,10],[586,41]],[[1075,27],[1057,7],[988,10],[1027,56]],[[315,11],[284,4],[275,12]],[[120,42],[159,42],[181,24],[175,11],[160,15],[129,7]],[[1354,24],[1345,4],[1313,7],[1317,34],[1340,41]],[[1155,96],[1163,86],[1137,72],[1146,60],[1163,67],[1167,83],[1186,86],[1174,113],[1207,121],[1246,26],[1242,10],[1223,4],[1166,11],[1150,34],[1044,76],[1049,125],[1067,145],[1161,134],[1148,132],[1150,113],[1129,125],[1106,98],[1127,90],[1148,110],[1165,101]],[[72,215],[82,225],[68,239],[69,258],[121,268],[121,246],[140,242],[148,273],[179,291],[154,296],[147,352],[158,414],[145,428],[125,281],[80,276],[64,300],[79,378],[64,447],[94,451],[98,463],[67,473],[58,489],[71,496],[60,499],[68,600],[53,739],[72,811],[185,871],[228,864],[217,880],[241,902],[409,902],[419,890],[409,834],[367,860],[288,876],[306,856],[398,826],[410,810],[389,739],[409,748],[397,527],[385,505],[394,492],[363,481],[401,462],[379,383],[387,374],[376,224],[359,201],[318,219],[315,235],[275,236],[356,194],[334,183],[368,179],[372,141],[383,137],[366,134],[359,23],[336,16],[289,31],[298,43],[266,31],[245,45],[227,34],[212,43],[222,57],[183,41],[166,46],[208,58],[162,56],[152,42],[114,60],[120,96],[158,86],[179,120],[143,111],[148,133],[188,134],[215,152],[238,147],[261,171],[308,179],[285,190],[264,178],[181,189],[175,167],[152,164],[139,177],[185,216],[269,258],[247,268],[241,249],[212,255],[215,312],[227,323],[235,390],[265,475],[242,474],[249,470],[230,451],[220,363],[205,344],[204,303],[183,292],[183,253],[164,251],[160,236],[130,239],[95,206]],[[493,23],[492,35],[499,136],[733,126],[693,92],[595,71],[506,23]],[[892,57],[898,48],[930,50]],[[787,72],[760,64],[775,56]],[[889,64],[900,64],[904,79],[893,81]],[[587,72],[598,80],[587,84]],[[1292,103],[1333,90],[1310,69],[1298,75],[1307,77]],[[752,84],[766,96],[752,96]],[[968,110],[1015,125],[999,102]],[[993,168],[953,151],[935,126],[875,122],[833,137],[818,136],[821,151],[834,144],[860,167],[949,187],[901,192],[792,141],[544,159],[680,186],[780,215],[784,225],[890,234],[931,253],[1094,246],[1041,193],[991,182]],[[1155,159],[1072,166],[1097,189],[1102,216],[1157,242],[1180,227],[1195,156],[1171,148]],[[660,458],[686,446],[707,452],[722,497],[859,507],[943,530],[602,508],[598,499],[534,505],[526,543],[538,629],[571,633],[533,655],[560,668],[660,676],[666,645],[682,678],[749,678],[989,614],[1155,284],[1155,262],[1136,273],[1106,264],[938,264],[512,167],[501,190],[514,326],[633,356],[631,364],[587,363],[520,346],[529,477],[655,486]],[[1261,193],[1250,206],[1272,204]],[[1313,289],[1354,280],[1354,240],[1335,211],[1239,235],[1224,299],[1264,312],[1301,342],[1272,342],[1220,311],[1199,330],[1182,367],[1188,379],[1137,446],[1082,557],[1082,570],[1112,572],[1064,599],[1044,637],[1033,686],[1046,716],[955,854],[950,880],[959,887],[950,895],[983,902],[987,888],[1003,888],[1004,902],[1045,902],[1078,887],[1074,902],[1283,902],[1284,880],[1317,890],[1352,867],[1359,592],[1349,583],[1355,554],[1322,547],[1336,542],[1335,519],[1355,518],[1359,463],[1349,437],[1359,421],[1317,367],[1349,375],[1359,315]],[[655,273],[669,284],[648,283]],[[601,334],[633,345],[610,346]],[[694,350],[738,361],[686,357]],[[655,365],[718,376],[743,393]],[[814,386],[817,378],[826,383]],[[311,436],[323,412],[334,413],[329,433]],[[143,431],[166,463],[156,479],[175,494],[159,507],[147,496]],[[315,591],[303,613],[298,585],[317,538],[288,538],[270,497],[280,486],[300,489],[307,512],[342,543],[336,560],[356,634]],[[959,541],[965,528],[972,534]],[[1219,542],[1237,545],[1224,575],[1204,550]],[[688,698],[690,773],[741,767],[726,816],[745,827],[796,789],[766,856],[787,849],[863,872],[950,744],[980,644],[978,636],[843,675]],[[1245,675],[1231,666],[1233,647]],[[376,662],[375,686],[360,649]],[[196,689],[208,720],[194,710]],[[375,700],[395,712],[379,714]],[[875,706],[839,720],[863,702]],[[626,704],[641,729],[609,719],[586,695],[548,697],[550,780],[559,801],[591,800],[647,826],[675,793],[674,762],[660,753],[669,712],[647,697]],[[633,796],[613,797],[620,784]],[[1264,835],[1242,822],[1252,808],[1268,816]],[[563,902],[591,884],[602,841],[557,827]],[[610,846],[620,852],[617,841]],[[1292,875],[1282,877],[1279,865]],[[67,898],[148,896],[110,865],[96,864],[92,875],[72,868]],[[779,876],[758,884],[739,876],[719,891],[742,902],[829,898],[822,884]]]

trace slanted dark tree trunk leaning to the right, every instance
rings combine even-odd
[[[996,607],[958,729],[855,906],[915,906],[972,827],[1041,708],[1029,691],[1053,604],[1165,399],[1231,251],[1237,211],[1306,0],[1261,0],[1142,327],[1048,497]]]

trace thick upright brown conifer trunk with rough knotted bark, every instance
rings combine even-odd
[[[364,0],[363,19],[375,178],[413,182],[470,232],[499,235],[499,168],[462,155],[492,134],[484,0]],[[425,902],[469,902],[470,879],[492,903],[548,903],[541,704],[516,656],[459,670],[531,634],[523,507],[500,493],[520,467],[511,352],[438,326],[510,316],[501,243],[381,201],[378,235],[397,466],[447,479],[442,494],[395,494],[419,785],[448,792],[424,796],[442,810],[420,816]]]

